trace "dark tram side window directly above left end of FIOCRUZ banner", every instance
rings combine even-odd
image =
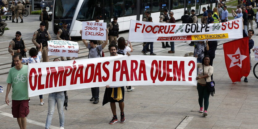
[[[136,8],[135,8],[134,0],[125,0],[125,10],[124,14],[126,15],[136,15]]]

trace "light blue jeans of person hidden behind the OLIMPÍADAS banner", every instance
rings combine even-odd
[[[64,92],[54,92],[49,94],[49,110],[46,120],[46,129],[49,129],[52,121],[52,116],[55,111],[55,106],[57,103],[57,110],[59,114],[59,122],[60,127],[64,127],[65,115],[64,115],[64,102],[65,102],[65,94]]]

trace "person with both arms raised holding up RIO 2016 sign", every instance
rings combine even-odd
[[[108,29],[106,29],[106,32],[106,40],[101,45],[98,45],[98,40],[89,40],[90,43],[88,43],[87,40],[82,39],[84,45],[89,49],[88,58],[102,57],[103,49],[108,44]],[[80,31],[80,34],[82,35],[82,30]],[[99,103],[99,87],[91,88],[91,94],[92,98],[90,99],[90,101],[94,101],[94,104]]]

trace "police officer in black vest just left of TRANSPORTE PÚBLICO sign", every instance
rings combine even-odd
[[[48,56],[48,41],[51,40],[51,36],[49,34],[49,31],[45,30],[45,23],[40,23],[40,28],[34,32],[34,35],[32,37],[32,43],[37,47],[38,51],[40,49],[40,43],[42,43],[42,58],[43,62],[49,62],[49,56]]]

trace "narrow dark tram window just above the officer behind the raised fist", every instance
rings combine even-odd
[[[113,0],[113,16],[123,17],[124,0]]]

